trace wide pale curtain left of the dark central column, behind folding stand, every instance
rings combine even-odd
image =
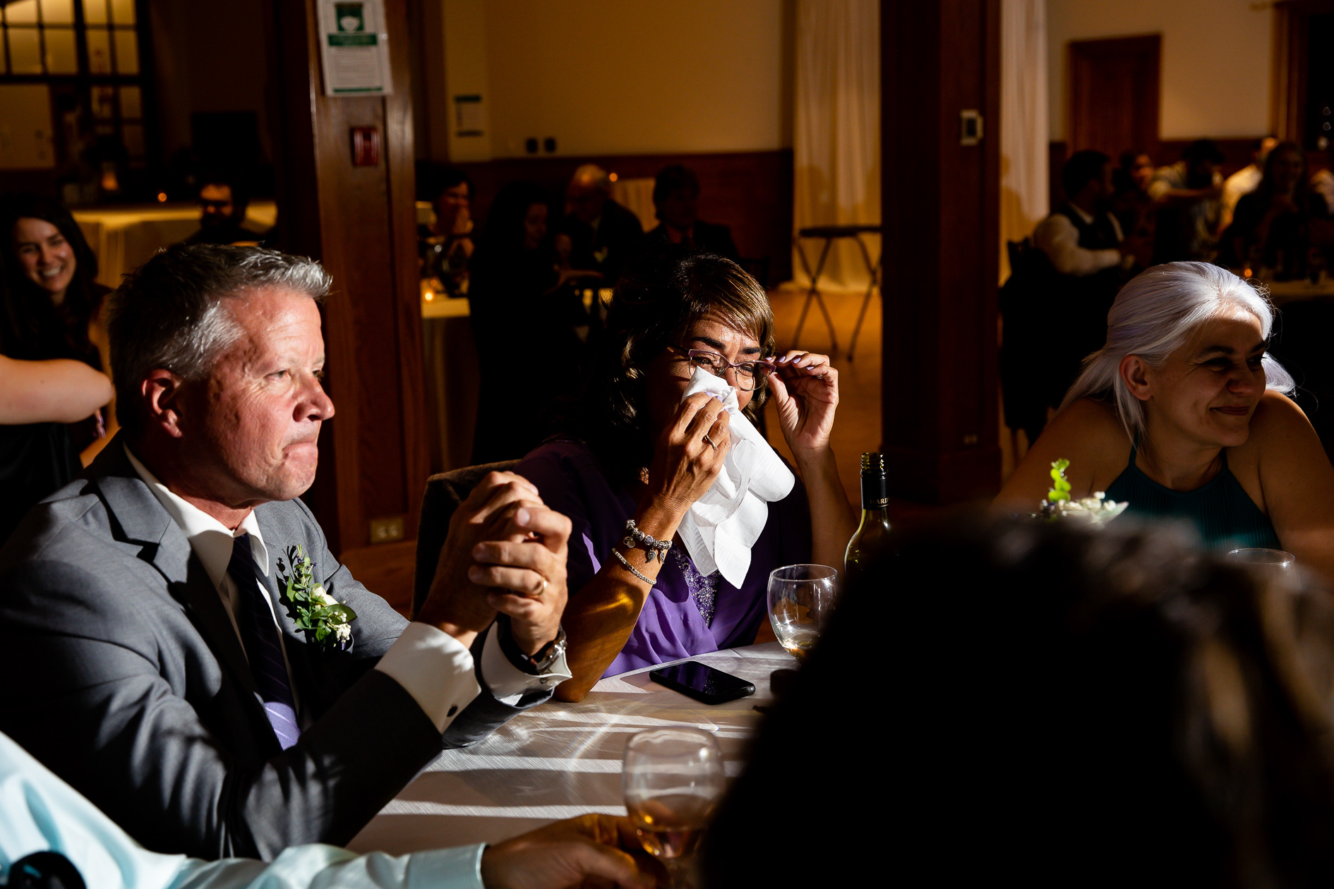
[[[879,0],[798,0],[794,103],[794,228],[879,224]],[[803,244],[812,271],[822,244]],[[867,247],[874,261],[880,239]],[[795,251],[792,277],[808,284]],[[820,288],[864,291],[868,280],[856,244],[835,241]]]

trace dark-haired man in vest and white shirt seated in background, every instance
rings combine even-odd
[[[1033,244],[1051,264],[1046,289],[1050,329],[1043,337],[1047,400],[1058,407],[1090,352],[1107,340],[1107,309],[1137,263],[1147,265],[1147,244],[1127,239],[1107,211],[1113,195],[1111,159],[1079,151],[1061,169],[1066,203],[1033,232]],[[1139,257],[1139,259],[1137,259]]]

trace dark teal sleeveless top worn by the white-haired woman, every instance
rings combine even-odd
[[[1125,500],[1130,504],[1127,513],[1145,518],[1190,520],[1205,544],[1215,549],[1282,549],[1269,516],[1259,510],[1227,468],[1226,449],[1222,470],[1195,490],[1173,490],[1159,485],[1135,465],[1138,452],[1137,437],[1130,446],[1130,465],[1107,485],[1107,500]]]

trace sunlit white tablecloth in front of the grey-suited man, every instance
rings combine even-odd
[[[543,704],[491,737],[446,750],[359,833],[350,849],[391,854],[471,842],[499,842],[587,812],[626,814],[620,757],[635,732],[668,725],[712,732],[727,776],[740,774],[760,714],[772,701],[768,676],[795,658],[778,642],[691,660],[740,676],[755,694],[707,705],[648,678],[644,668],[598,682],[579,704]]]

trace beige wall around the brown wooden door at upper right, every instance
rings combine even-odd
[[[1047,0],[1051,139],[1066,136],[1071,40],[1162,35],[1159,136],[1267,132],[1273,9],[1253,0]]]

